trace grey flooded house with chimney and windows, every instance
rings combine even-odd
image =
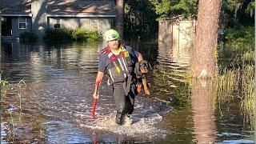
[[[47,28],[104,31],[114,26],[116,8],[111,0],[2,0],[2,38],[34,32],[42,38]]]

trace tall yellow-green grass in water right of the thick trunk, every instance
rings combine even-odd
[[[255,66],[254,53],[251,50],[234,56],[229,69],[220,70],[216,78],[218,86],[218,100],[230,102],[234,96],[240,99],[241,110],[245,122],[250,122],[254,126],[255,106]]]

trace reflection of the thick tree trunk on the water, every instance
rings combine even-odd
[[[214,117],[214,95],[216,85],[211,80],[191,82],[191,105],[194,121],[194,135],[198,143],[214,143],[216,138]]]

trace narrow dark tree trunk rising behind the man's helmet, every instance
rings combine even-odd
[[[124,15],[124,2],[123,0],[117,0],[117,17],[116,17],[116,26],[120,34],[120,38],[123,38],[123,15]]]

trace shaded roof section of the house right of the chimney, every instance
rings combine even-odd
[[[114,1],[47,2],[52,17],[115,17]]]

